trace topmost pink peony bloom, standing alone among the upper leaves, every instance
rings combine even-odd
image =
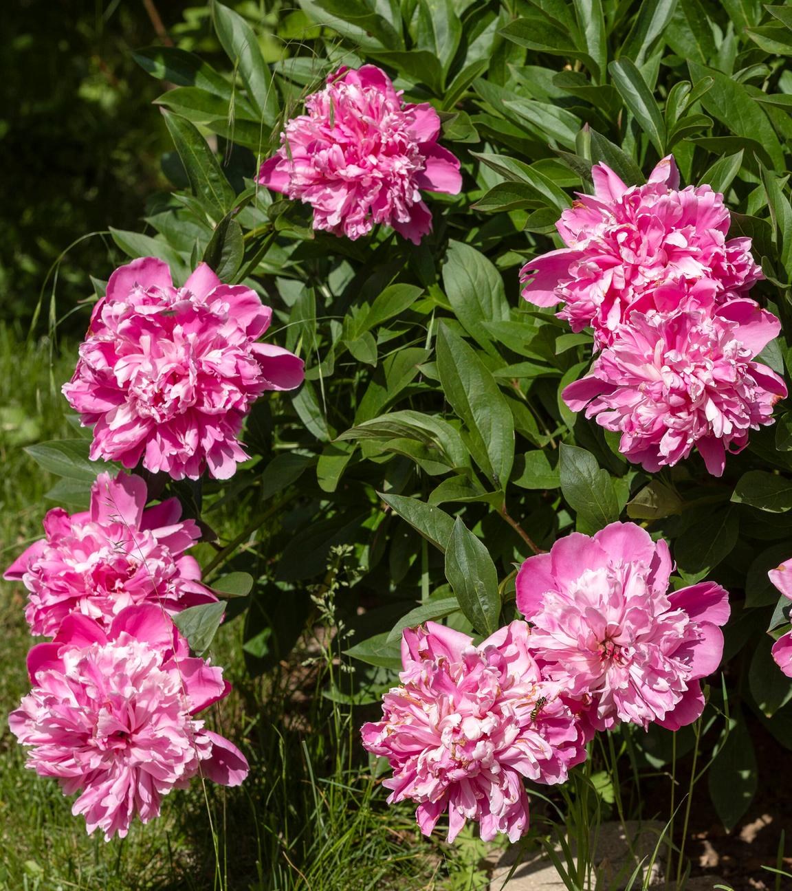
[[[404,104],[374,65],[346,67],[306,99],[258,182],[314,208],[314,229],[356,239],[384,223],[415,244],[432,227],[420,190],[461,189],[460,163],[437,145],[431,105]]]

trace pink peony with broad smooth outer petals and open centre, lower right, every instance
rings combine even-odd
[[[721,661],[729,595],[714,582],[668,593],[671,570],[668,545],[634,523],[573,532],[519,570],[531,650],[596,730],[678,730],[704,708],[700,679]]]

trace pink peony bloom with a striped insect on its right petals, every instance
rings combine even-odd
[[[402,686],[383,698],[383,718],[363,725],[363,746],[388,758],[388,802],[418,802],[430,835],[448,811],[448,840],[465,820],[481,838],[528,826],[523,778],[567,779],[584,760],[580,727],[528,650],[525,622],[512,622],[473,646],[467,634],[427,622],[404,631]]]

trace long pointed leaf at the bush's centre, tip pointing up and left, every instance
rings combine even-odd
[[[514,419],[492,374],[458,335],[441,325],[437,372],[445,398],[469,430],[471,453],[496,489],[514,462]]]

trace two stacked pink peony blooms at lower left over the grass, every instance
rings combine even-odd
[[[170,616],[216,601],[184,552],[200,533],[169,498],[150,508],[142,478],[103,473],[90,510],[46,515],[45,538],[5,577],[29,591],[32,690],[9,715],[27,766],[55,777],[88,832],[127,835],[171,789],[200,776],[236,786],[248,764],[196,715],[225,698],[221,668],[190,657]]]

